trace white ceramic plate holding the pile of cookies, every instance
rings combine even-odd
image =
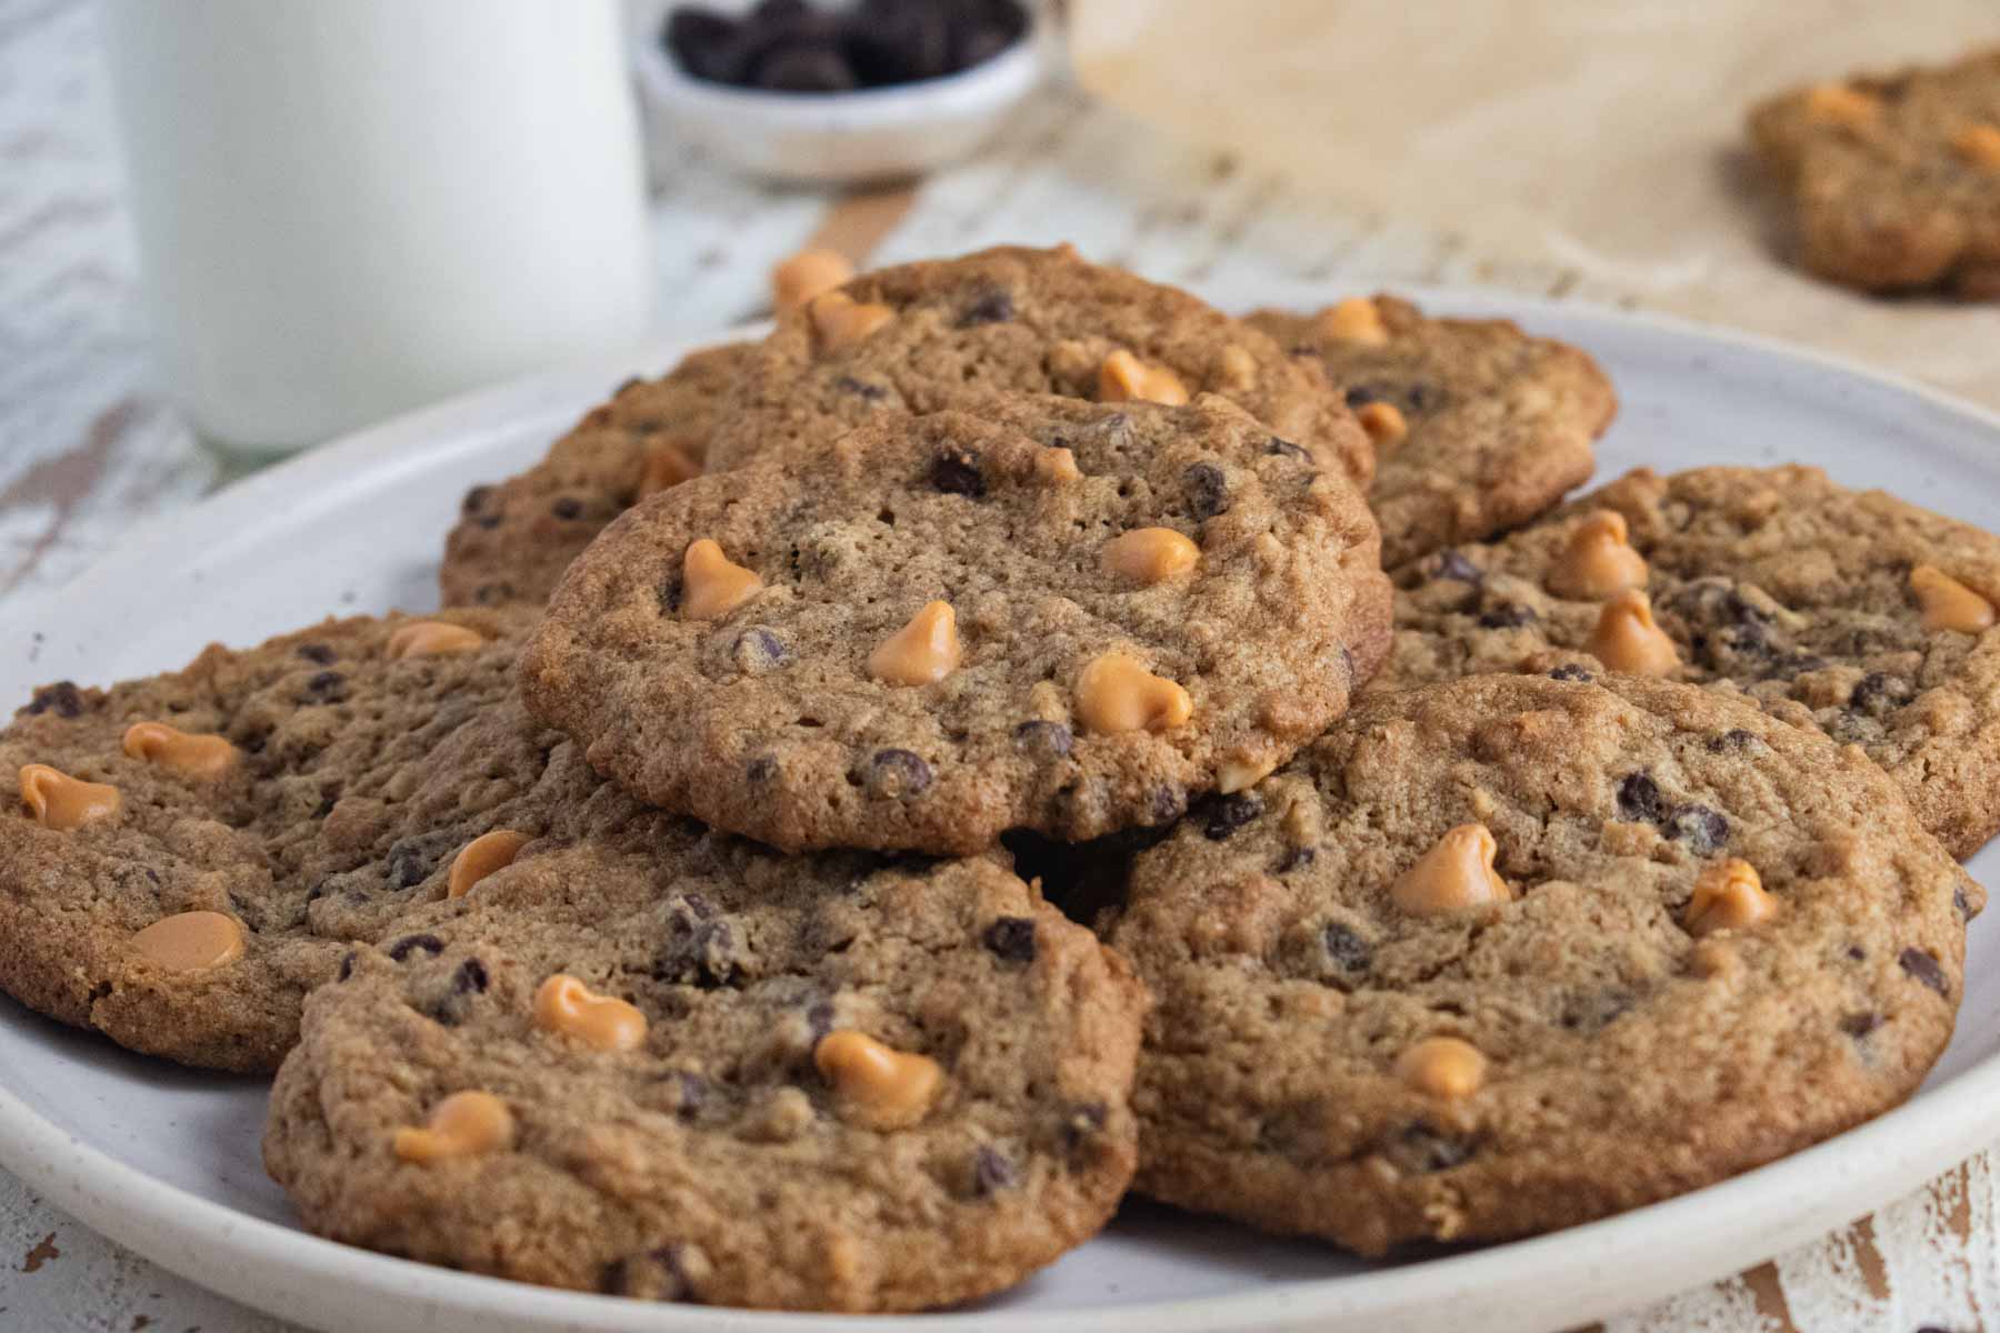
[[[1332,292],[1218,292],[1230,306]],[[1514,312],[1594,352],[1624,400],[1600,476],[1806,460],[1966,520],[2000,510],[2000,418],[1760,342],[1518,298],[1436,292],[1438,310]],[[134,532],[40,608],[10,610],[0,705],[34,681],[178,666],[330,612],[434,604],[440,538],[466,486],[528,464],[626,374],[518,384],[406,418]],[[1972,869],[2000,867],[2000,851]],[[1018,1291],[914,1319],[658,1307],[450,1273],[304,1235],[258,1161],[264,1087],[178,1071],[0,1001],[0,1161],[56,1205],[240,1301],[324,1329],[722,1331],[1558,1329],[1762,1261],[1838,1227],[2000,1135],[2000,909],[1972,927],[1958,1037],[1892,1111],[1712,1189],[1560,1235],[1366,1265],[1330,1247],[1128,1207]]]

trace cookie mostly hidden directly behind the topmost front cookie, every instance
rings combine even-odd
[[[1182,404],[1222,394],[1366,482],[1368,438],[1316,366],[1204,302],[1058,250],[1000,248],[862,274],[780,314],[710,444],[714,470],[826,442],[882,410],[994,394]]]

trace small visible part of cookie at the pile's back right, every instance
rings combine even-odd
[[[1394,296],[1248,322],[1318,358],[1374,440],[1368,508],[1382,562],[1492,536],[1552,508],[1594,468],[1618,412],[1598,364],[1512,320],[1438,320]]]

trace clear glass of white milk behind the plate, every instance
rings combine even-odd
[[[650,318],[616,0],[106,0],[166,388],[268,456]]]

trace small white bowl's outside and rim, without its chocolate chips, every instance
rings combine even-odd
[[[970,154],[1042,82],[1042,24],[998,56],[942,78],[862,92],[762,92],[688,76],[660,28],[636,36],[640,86],[666,130],[752,176],[862,184]]]

